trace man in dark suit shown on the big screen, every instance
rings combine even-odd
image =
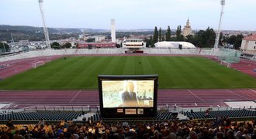
[[[137,107],[137,96],[134,90],[134,84],[128,81],[126,91],[122,93],[123,107]]]

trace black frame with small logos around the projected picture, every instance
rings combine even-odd
[[[103,107],[102,81],[104,80],[154,80],[154,102],[153,107]],[[102,117],[155,117],[157,114],[157,87],[158,75],[99,75],[99,107]],[[144,110],[144,114],[125,114],[127,110]],[[123,111],[118,113],[117,111]]]

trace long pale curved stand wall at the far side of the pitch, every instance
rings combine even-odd
[[[23,53],[16,53],[12,55],[6,55],[0,57],[0,62],[15,60],[15,59],[26,59],[40,56],[76,56],[76,55],[100,55],[100,54],[124,54],[129,49],[46,49],[36,50]],[[140,49],[147,54],[180,54],[180,55],[200,55],[200,56],[218,56],[218,52],[211,49],[166,49],[166,48],[145,48]]]

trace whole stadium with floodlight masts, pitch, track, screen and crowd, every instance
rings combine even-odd
[[[256,137],[256,60],[219,49],[220,25],[214,49],[116,48],[114,19],[111,42],[50,49],[42,2],[46,49],[0,56],[0,138]]]

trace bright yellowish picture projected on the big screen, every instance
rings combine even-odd
[[[103,80],[103,107],[153,107],[154,80]]]

